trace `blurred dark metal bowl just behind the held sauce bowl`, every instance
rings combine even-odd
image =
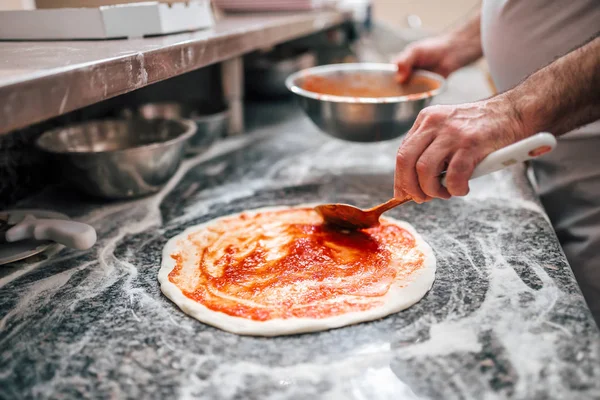
[[[249,96],[279,98],[290,95],[285,81],[291,74],[314,67],[317,59],[312,52],[273,52],[255,55],[246,61],[245,84]]]

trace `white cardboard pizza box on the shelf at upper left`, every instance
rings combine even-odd
[[[213,25],[210,0],[0,11],[0,39],[14,40],[131,38]]]

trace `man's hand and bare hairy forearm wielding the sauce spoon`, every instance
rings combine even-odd
[[[488,100],[419,113],[398,150],[394,196],[416,202],[469,192],[489,153],[536,132],[562,135],[600,119],[600,33]],[[439,175],[446,172],[447,189]]]

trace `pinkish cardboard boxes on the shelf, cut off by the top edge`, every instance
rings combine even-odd
[[[334,7],[337,0],[214,0],[224,11],[310,11]]]

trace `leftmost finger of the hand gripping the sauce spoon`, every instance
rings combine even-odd
[[[429,200],[419,185],[416,163],[423,151],[431,144],[433,136],[416,131],[407,137],[396,155],[396,177],[394,194],[396,197],[410,196],[417,203]]]

